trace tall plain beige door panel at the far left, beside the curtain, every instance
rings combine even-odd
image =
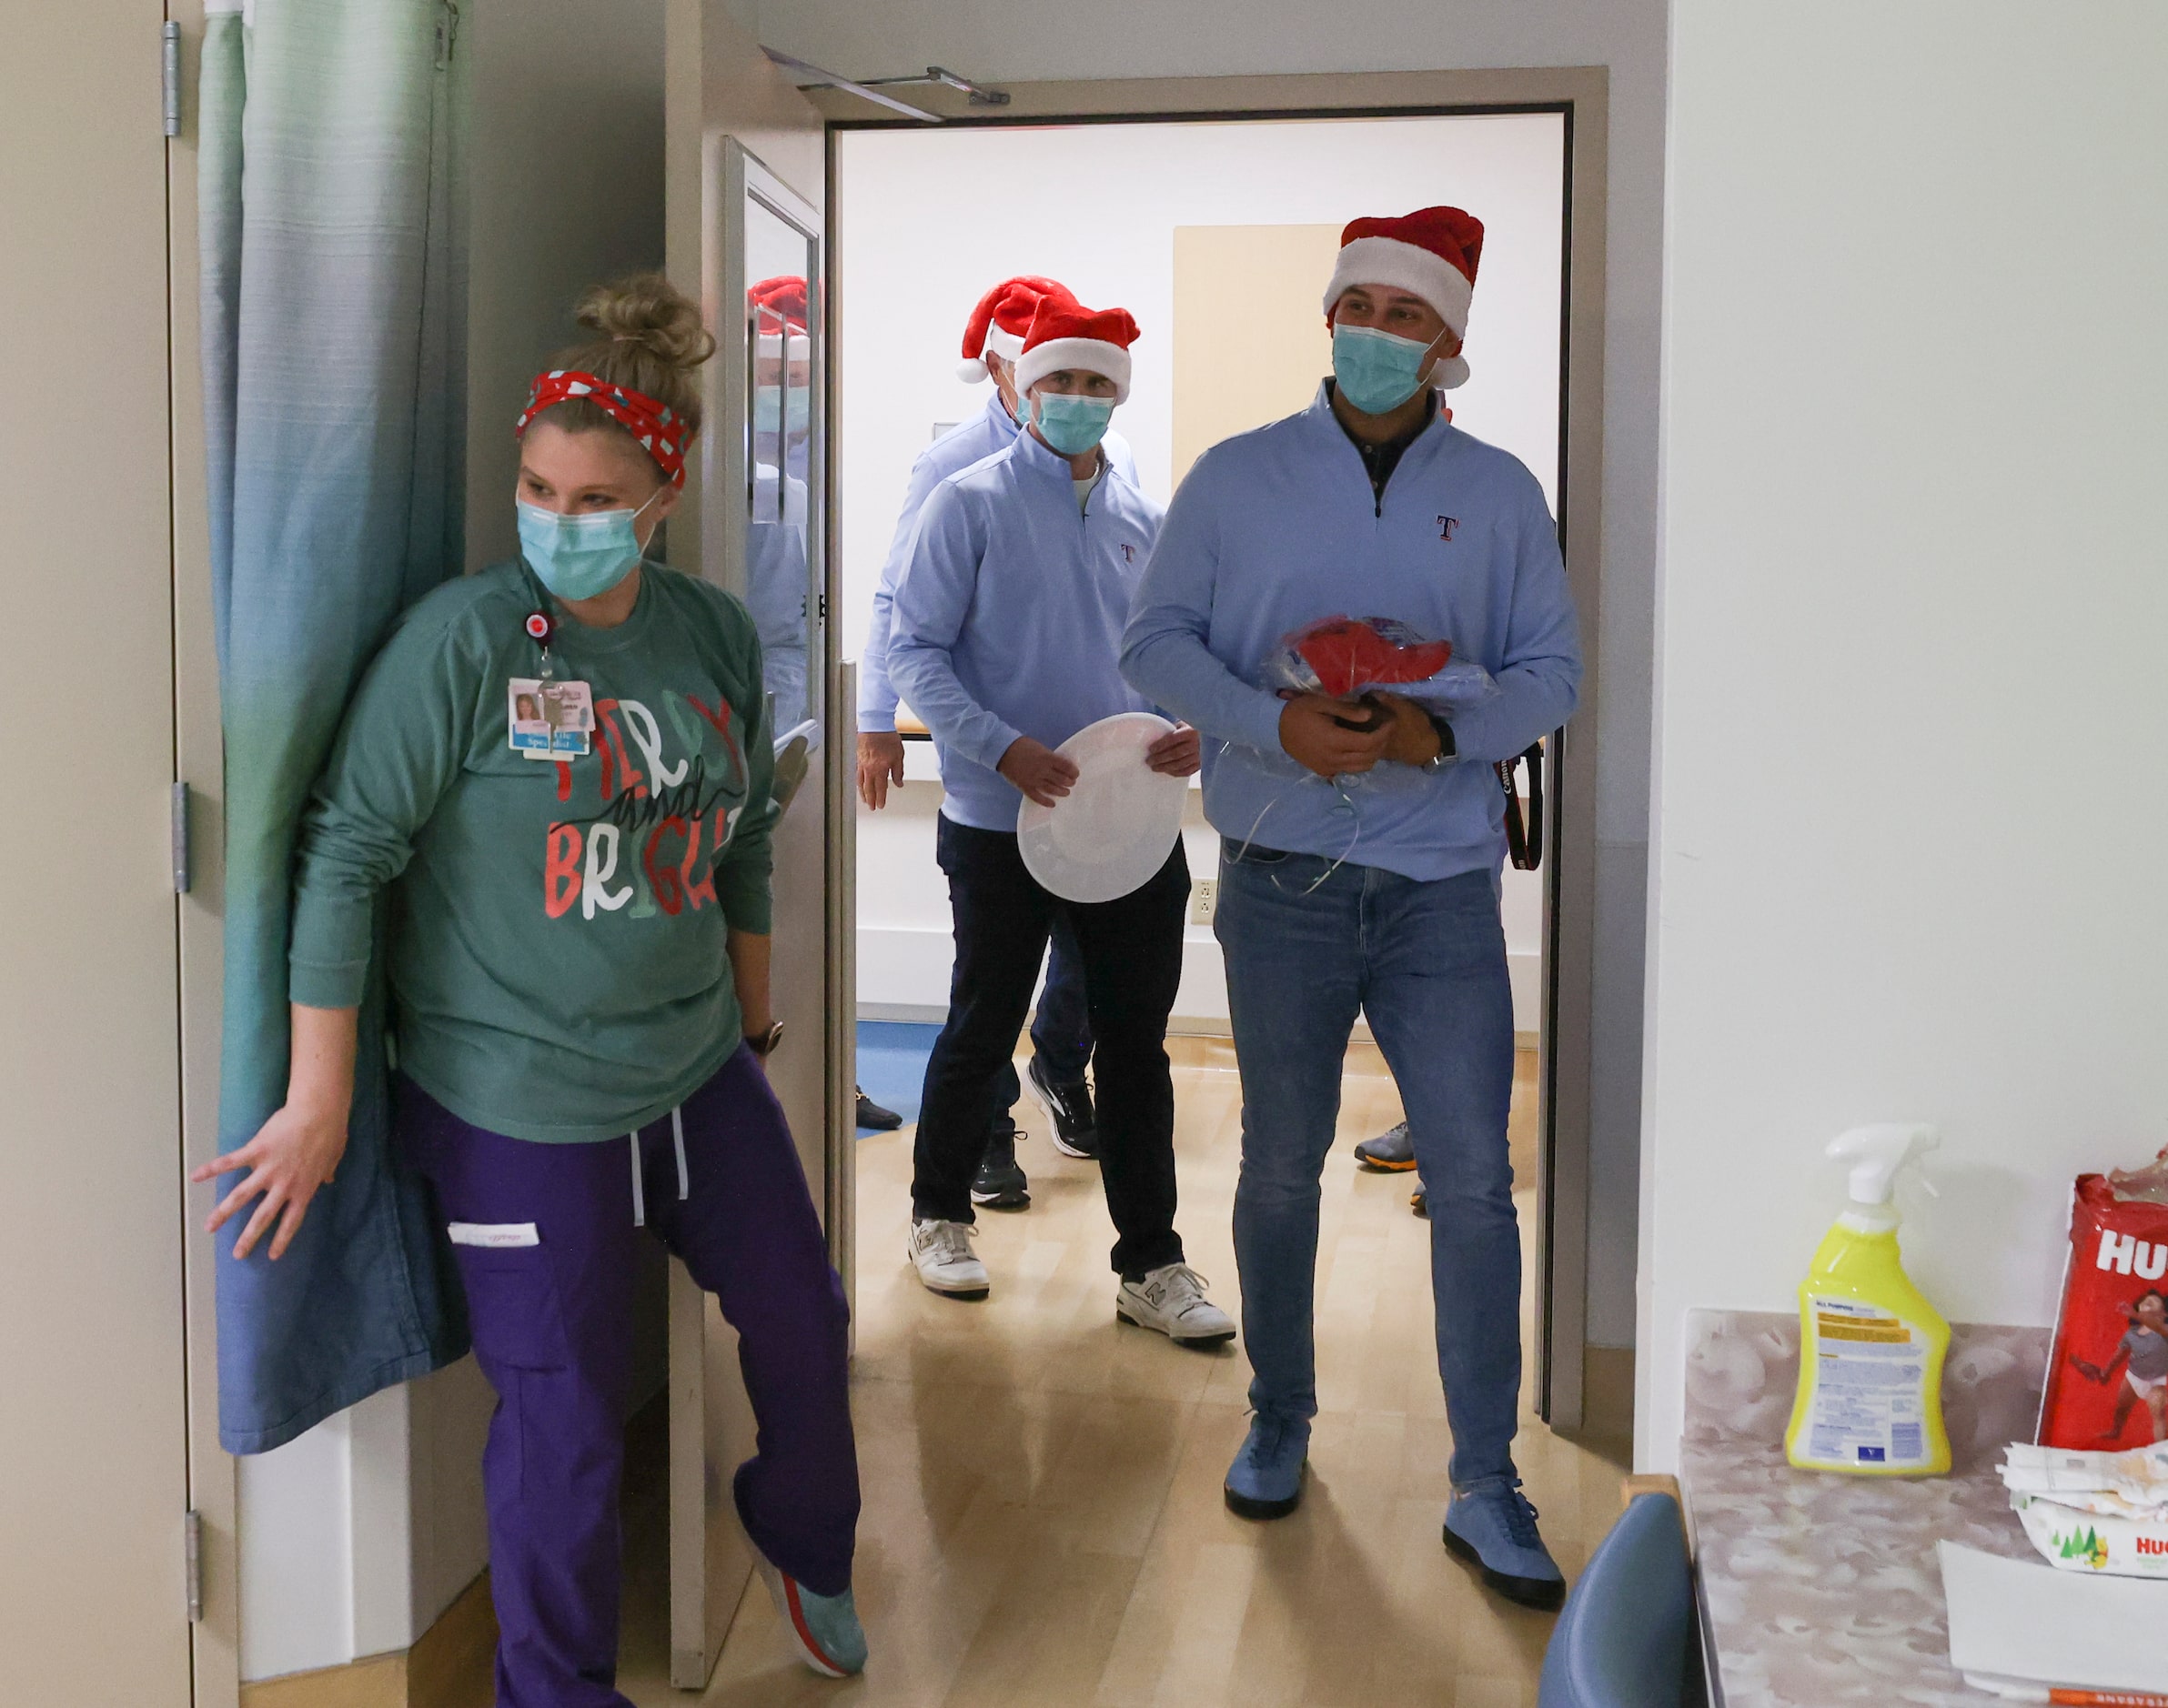
[[[15,0],[0,1695],[189,1701],[160,0]]]

